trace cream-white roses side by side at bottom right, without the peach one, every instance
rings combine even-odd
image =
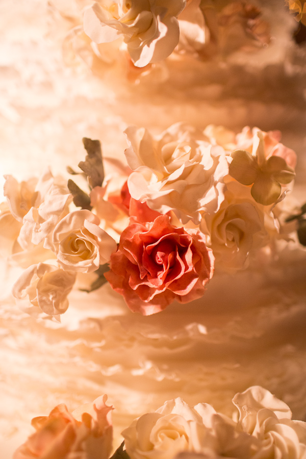
[[[131,459],[304,459],[306,423],[292,421],[284,402],[259,386],[233,402],[238,422],[206,403],[168,400],[123,430],[126,452]]]

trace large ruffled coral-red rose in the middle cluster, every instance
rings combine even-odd
[[[121,234],[105,277],[123,295],[133,312],[150,315],[173,300],[187,303],[200,298],[213,275],[214,257],[197,230],[170,224],[157,217],[150,229],[132,223]]]

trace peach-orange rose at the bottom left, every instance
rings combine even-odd
[[[36,432],[15,451],[13,459],[108,459],[112,450],[112,406],[107,396],[69,413],[64,404],[49,416],[32,419]]]

